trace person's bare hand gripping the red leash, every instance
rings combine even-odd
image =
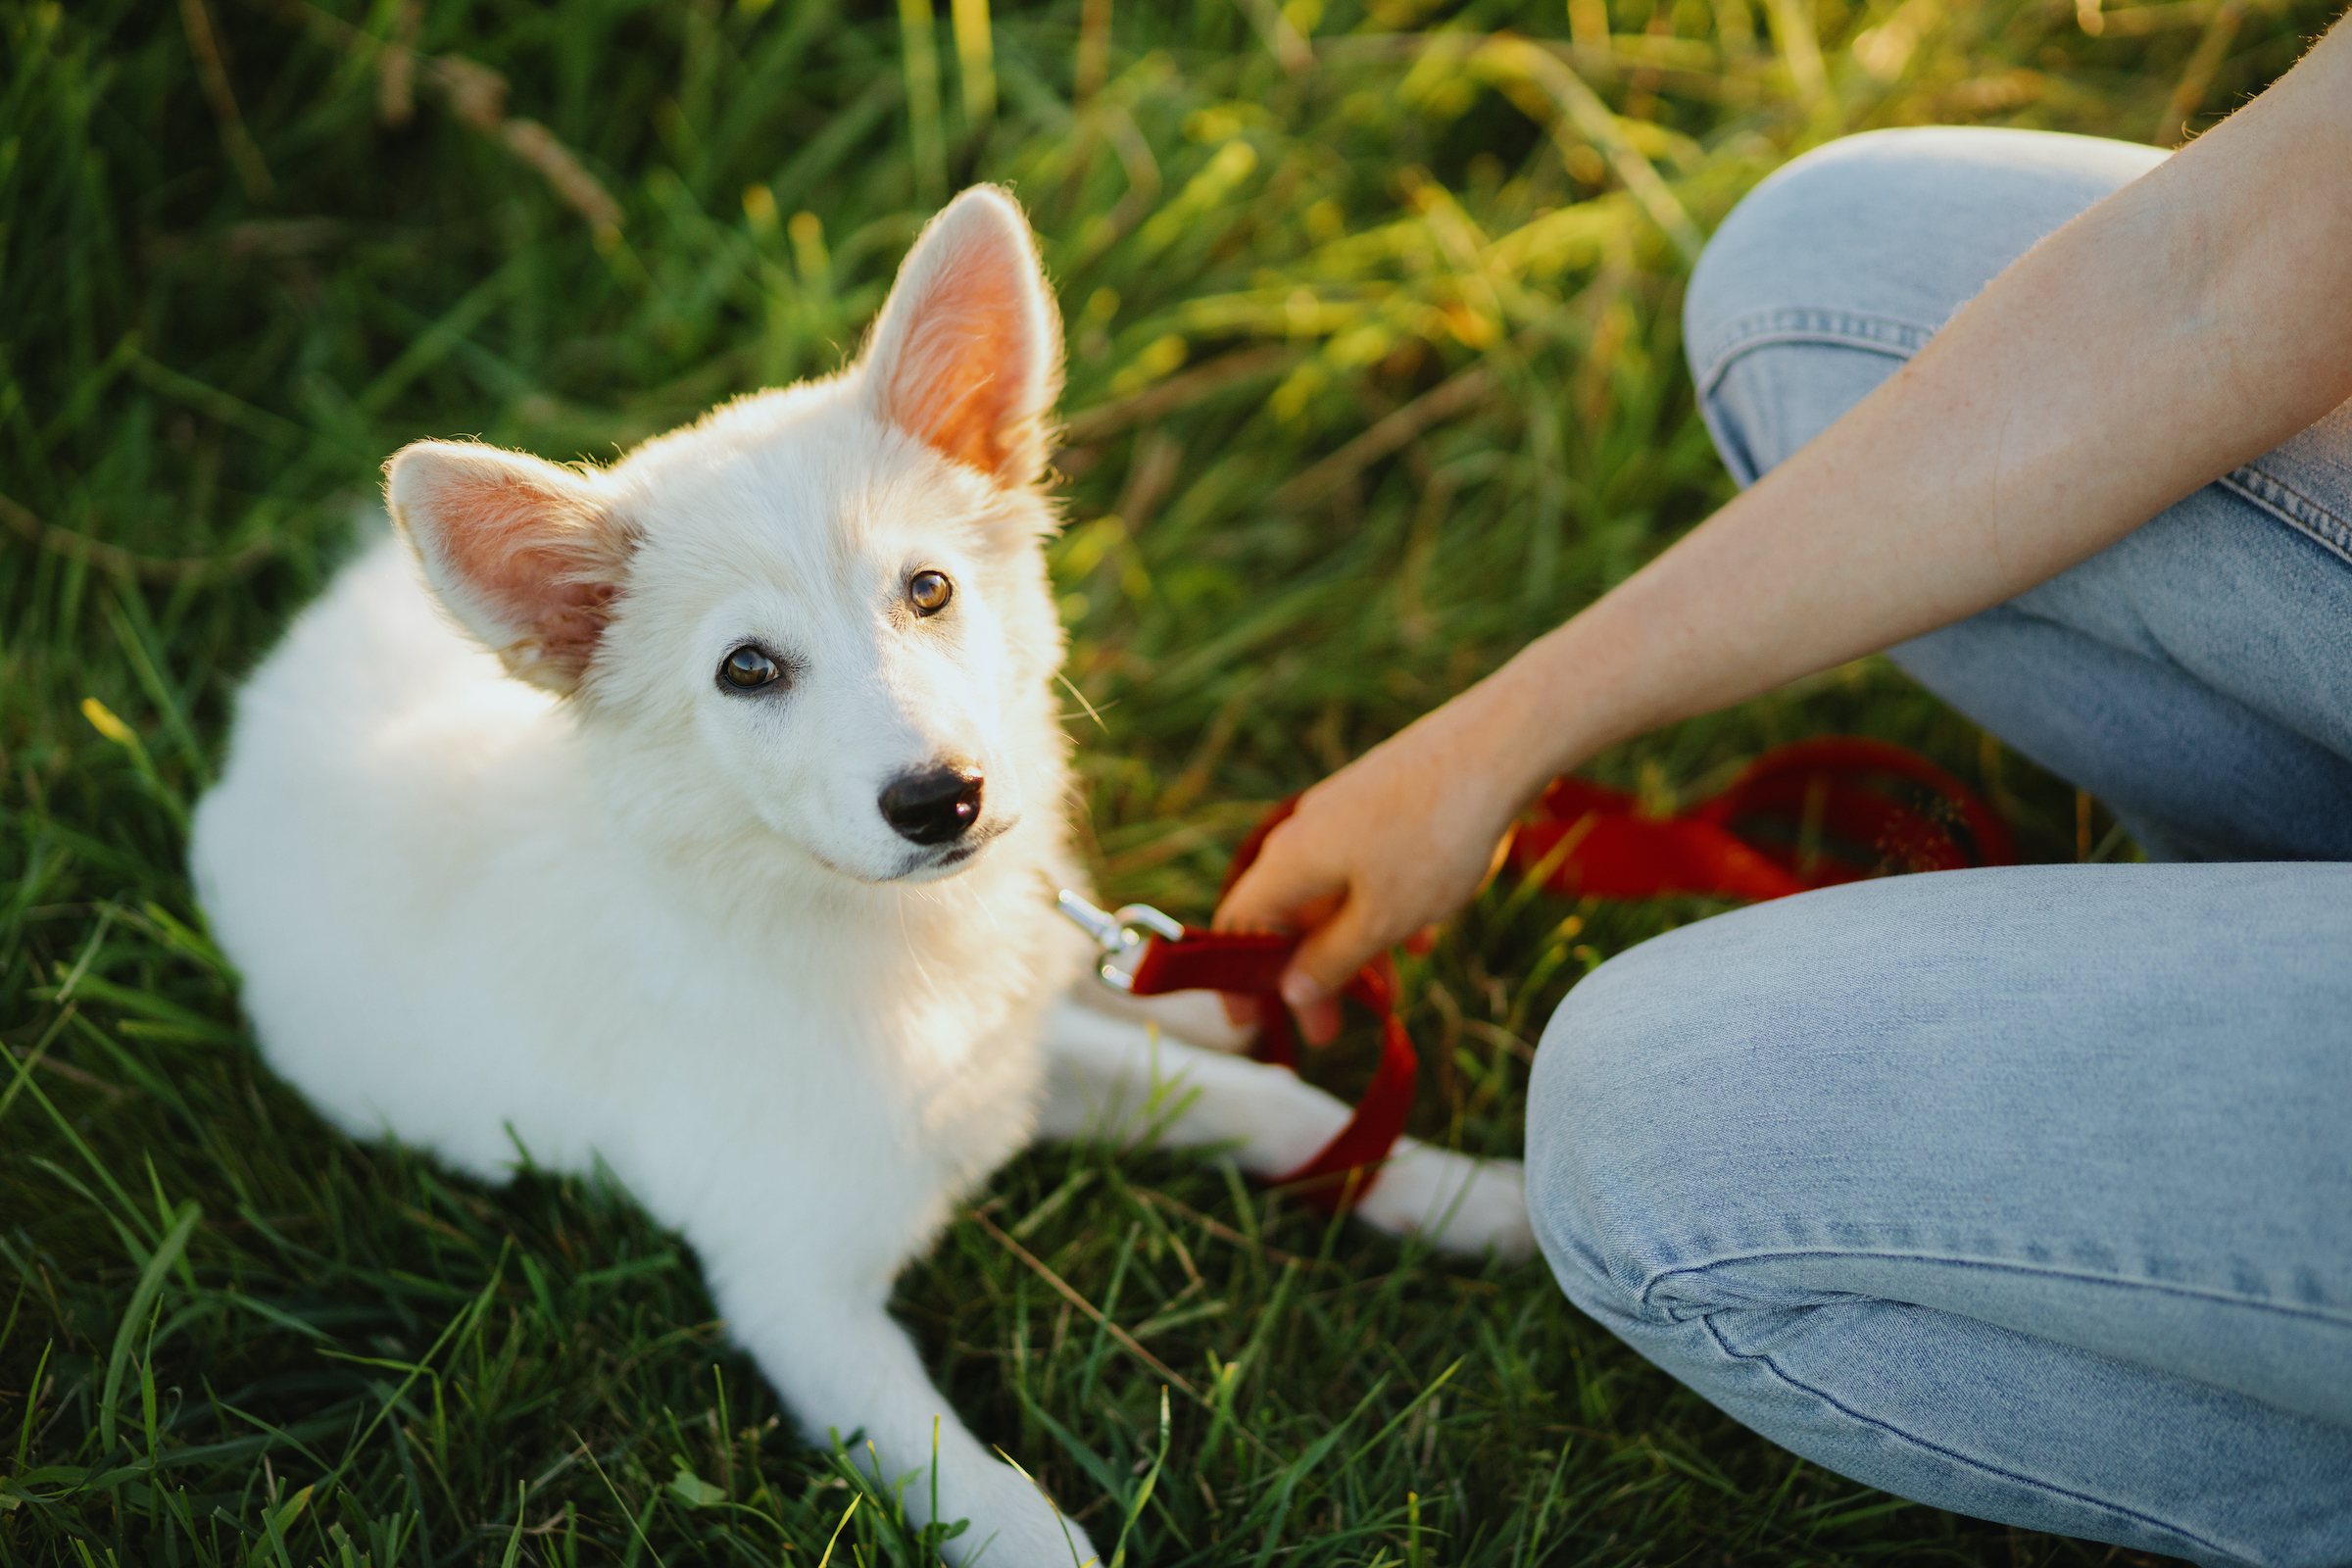
[[[1218,931],[1305,940],[1282,999],[1310,1041],[1338,1032],[1338,992],[1374,954],[1470,903],[1519,809],[1463,703],[1383,741],[1298,799],[1216,910]]]

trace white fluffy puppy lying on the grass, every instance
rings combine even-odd
[[[405,543],[245,686],[191,849],[261,1048],[320,1110],[487,1180],[602,1159],[818,1441],[863,1429],[891,1483],[946,1418],[950,1552],[1007,1566],[1091,1549],[946,1410],[884,1309],[898,1267],[1037,1131],[1155,1074],[1162,1143],[1254,1173],[1345,1121],[1089,1006],[1054,912],[1084,886],[1040,550],[1058,386],[1028,226],[983,188],[830,381],[604,470],[407,447]],[[1167,1020],[1232,1046],[1214,1006]],[[1411,1143],[1362,1213],[1529,1248],[1517,1166]]]

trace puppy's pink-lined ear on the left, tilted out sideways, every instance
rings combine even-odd
[[[414,442],[383,465],[393,522],[442,604],[508,675],[569,696],[633,545],[581,473],[473,442]]]

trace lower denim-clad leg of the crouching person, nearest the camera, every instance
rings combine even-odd
[[[1545,1030],[1562,1286],[1776,1443],[2204,1563],[2352,1561],[2352,865],[1865,882]]]

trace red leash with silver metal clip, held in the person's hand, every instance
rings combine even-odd
[[[1912,804],[1905,795],[1924,797]],[[1218,900],[1251,867],[1298,797],[1277,804],[1232,851]],[[1952,827],[1964,830],[1964,839]],[[1557,778],[1510,846],[1522,875],[1564,896],[1785,898],[1856,882],[1879,870],[2006,865],[2009,830],[1964,783],[1898,745],[1856,738],[1799,741],[1757,757],[1729,790],[1682,816],[1646,818],[1625,790]],[[1103,980],[1136,997],[1218,990],[1254,997],[1258,1039],[1251,1058],[1296,1067],[1298,1034],[1275,990],[1296,936],[1181,926],[1150,905],[1115,914],[1075,893],[1061,910],[1101,943]],[[1327,1213],[1371,1190],[1414,1110],[1418,1058],[1397,1018],[1397,964],[1381,954],[1357,971],[1345,997],[1381,1020],[1381,1065],[1348,1126],[1310,1161],[1272,1178],[1298,1187]]]

